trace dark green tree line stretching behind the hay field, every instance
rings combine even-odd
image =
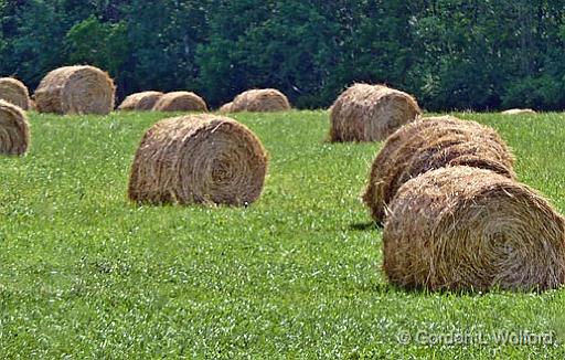
[[[565,108],[565,2],[0,0],[0,75],[34,88],[92,64],[118,95],[191,89],[213,106],[276,87],[301,108],[353,82],[430,110]]]

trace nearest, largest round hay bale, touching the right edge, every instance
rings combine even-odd
[[[565,282],[565,222],[530,188],[451,167],[406,182],[391,203],[384,272],[405,288],[509,290]]]

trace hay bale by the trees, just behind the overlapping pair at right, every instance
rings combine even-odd
[[[331,106],[330,141],[381,141],[422,110],[411,95],[382,85],[354,84]]]

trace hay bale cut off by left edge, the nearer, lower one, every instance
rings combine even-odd
[[[30,125],[25,112],[0,99],[0,153],[23,155],[29,145]]]

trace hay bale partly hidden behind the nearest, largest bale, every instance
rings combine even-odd
[[[514,157],[500,136],[475,121],[450,116],[411,123],[384,144],[362,195],[373,219],[382,223],[386,207],[403,183],[426,171],[467,165],[514,178]]]

